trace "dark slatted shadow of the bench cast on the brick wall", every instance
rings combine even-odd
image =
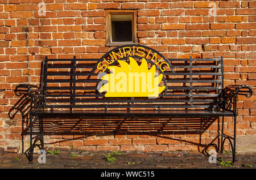
[[[14,119],[18,114],[22,117],[22,153],[24,149],[25,137],[30,135],[30,98],[23,95],[10,109],[9,117]],[[16,118],[15,118],[16,119]],[[211,126],[214,126],[212,128]],[[217,126],[217,130],[216,130]],[[59,135],[59,139],[54,142],[44,143],[44,145],[53,145],[69,142],[76,139],[92,139],[92,138],[113,138],[123,135],[125,138],[156,138],[156,144],[173,145],[196,145],[197,150],[206,156],[207,151],[213,147],[217,152],[221,149],[221,128],[220,118],[172,118],[172,119],[108,119],[108,118],[90,118],[81,117],[56,117],[44,118],[39,121],[38,118],[33,119],[33,136]],[[214,129],[214,131],[213,131]],[[209,135],[205,136],[205,133]],[[67,138],[64,135],[71,135]],[[79,136],[77,136],[79,135]],[[212,139],[206,142],[205,137]],[[161,140],[158,140],[161,139]],[[203,149],[203,150],[202,150]],[[154,149],[152,149],[154,150]],[[181,149],[177,149],[181,151]],[[186,149],[187,151],[189,149]]]

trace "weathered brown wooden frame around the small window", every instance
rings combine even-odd
[[[133,24],[133,41],[131,42],[112,42],[112,23],[110,15],[118,15],[118,14],[132,14]],[[137,10],[106,10],[106,46],[121,46],[125,44],[137,44]]]

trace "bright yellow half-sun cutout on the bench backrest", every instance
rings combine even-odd
[[[108,66],[110,74],[102,76],[106,80],[99,92],[105,92],[105,97],[158,97],[164,91],[165,86],[159,83],[163,74],[156,73],[153,65],[148,69],[146,59],[142,59],[141,65],[134,58],[129,57],[130,64],[118,60],[119,66]]]

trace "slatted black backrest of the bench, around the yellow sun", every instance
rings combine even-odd
[[[133,54],[131,54],[133,55]],[[138,56],[137,56],[138,57]],[[129,58],[123,58],[129,59]],[[97,69],[102,59],[44,59],[44,108],[64,110],[110,109],[212,109],[223,87],[222,58],[166,59],[159,97],[105,97],[98,92]],[[127,61],[129,62],[129,61]],[[150,61],[148,66],[150,65]],[[141,60],[138,61],[138,65]],[[102,64],[103,65],[103,64]],[[118,65],[115,62],[115,65]],[[99,66],[98,66],[99,67]],[[105,71],[108,72],[108,71]]]

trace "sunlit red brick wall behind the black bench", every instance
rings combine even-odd
[[[96,58],[110,50],[105,46],[105,9],[109,8],[138,9],[139,44],[167,58],[222,55],[225,85],[247,84],[254,91],[250,98],[238,97],[237,134],[256,134],[256,1],[45,0],[46,16],[39,16],[42,1],[0,0],[0,148],[21,151],[21,115],[10,119],[8,112],[18,101],[14,95],[17,84],[39,84],[42,57]],[[211,5],[216,11],[210,10]],[[216,131],[215,127],[209,130]],[[224,127],[233,134],[231,118]],[[214,138],[208,134],[200,140],[198,134],[98,132],[59,142],[77,137],[47,136],[45,141],[57,142],[51,146],[90,150],[197,151],[193,143],[205,144]]]

